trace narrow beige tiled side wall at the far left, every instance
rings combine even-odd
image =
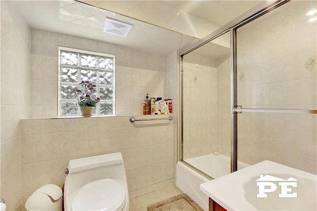
[[[20,119],[29,118],[31,30],[12,2],[1,1],[0,198],[21,210]]]

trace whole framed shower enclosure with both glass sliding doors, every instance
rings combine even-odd
[[[316,12],[266,1],[180,52],[178,164],[209,179],[266,159],[317,173]]]

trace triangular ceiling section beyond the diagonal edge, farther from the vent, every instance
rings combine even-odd
[[[263,0],[79,0],[201,39]]]

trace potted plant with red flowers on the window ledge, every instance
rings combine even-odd
[[[94,107],[97,106],[100,98],[95,97],[96,84],[89,81],[82,81],[78,84],[79,89],[76,91],[78,105],[83,116],[91,116]]]

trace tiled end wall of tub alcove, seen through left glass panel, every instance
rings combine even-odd
[[[185,158],[211,153],[211,140],[216,140],[216,127],[212,127],[212,122],[217,118],[216,105],[224,102],[224,99],[217,99],[216,62],[214,58],[195,53],[184,56]],[[196,83],[194,78],[197,79]]]

